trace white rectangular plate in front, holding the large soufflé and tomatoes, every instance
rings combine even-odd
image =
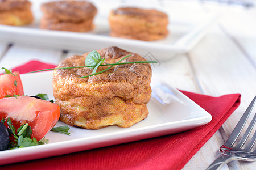
[[[50,99],[54,99],[52,71],[22,74],[21,79],[25,95],[45,93]],[[46,138],[49,139],[47,145],[0,151],[0,165],[179,133],[207,124],[212,120],[208,112],[187,96],[175,88],[156,83],[159,81],[155,79],[156,77],[153,76],[152,97],[147,105],[149,114],[143,121],[130,128],[109,126],[88,130],[69,126],[70,136],[49,131],[46,134]],[[56,126],[61,125],[67,124],[60,121],[56,124]]]

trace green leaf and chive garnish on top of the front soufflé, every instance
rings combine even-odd
[[[106,70],[111,69],[112,67],[114,67],[115,65],[126,65],[126,64],[133,64],[133,63],[156,63],[156,61],[134,61],[134,62],[122,62],[123,59],[126,59],[127,57],[130,57],[131,55],[128,55],[126,57],[123,57],[122,59],[120,59],[118,62],[116,63],[106,63],[105,62],[105,57],[102,58],[100,53],[98,53],[97,51],[92,51],[88,54],[88,56],[85,59],[85,66],[78,66],[78,67],[60,67],[60,68],[52,68],[52,69],[43,69],[43,70],[36,70],[36,71],[31,71],[28,73],[35,73],[35,72],[39,72],[39,71],[48,71],[48,70],[59,70],[59,69],[77,69],[77,68],[84,68],[84,67],[89,67],[90,69],[93,69],[92,74],[87,75],[87,76],[82,76],[79,78],[88,78],[89,76],[93,76],[93,75],[97,75],[100,73],[105,72]],[[98,73],[96,73],[97,69],[99,66],[110,66],[105,70],[99,71]]]

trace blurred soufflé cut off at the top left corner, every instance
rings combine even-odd
[[[34,17],[30,7],[27,0],[1,0],[0,24],[20,26],[31,23]]]

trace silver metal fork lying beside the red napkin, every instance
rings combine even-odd
[[[256,113],[253,117],[253,120],[251,120],[247,130],[245,131],[245,134],[243,134],[241,140],[237,144],[235,144],[238,136],[240,135],[243,129],[243,126],[245,125],[245,122],[247,121],[247,118],[251,113],[251,110],[253,109],[255,100],[256,96],[254,97],[253,101],[251,101],[245,113],[243,113],[243,116],[241,117],[240,121],[238,121],[236,127],[230,134],[229,138],[226,140],[224,145],[220,147],[222,155],[219,156],[216,160],[214,160],[214,162],[210,164],[207,170],[220,169],[224,164],[232,160],[245,160],[250,162],[256,160],[256,149],[253,150],[253,146],[256,141],[256,131],[253,137],[251,137],[249,143],[246,143],[247,138],[249,137],[249,134],[251,133],[251,130],[254,127],[256,121]],[[243,147],[245,143],[247,144],[247,146]]]

